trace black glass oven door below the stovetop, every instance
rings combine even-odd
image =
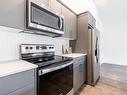
[[[67,63],[66,66],[54,66],[51,69],[44,68],[43,70],[45,74],[38,76],[38,95],[67,95],[72,90],[72,62]]]

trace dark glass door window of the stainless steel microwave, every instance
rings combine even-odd
[[[60,30],[60,18],[55,14],[31,3],[31,22]]]

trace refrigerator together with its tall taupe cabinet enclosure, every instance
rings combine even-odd
[[[89,12],[78,15],[77,22],[75,52],[87,54],[86,83],[95,85],[100,76],[100,33],[96,29],[96,20]]]

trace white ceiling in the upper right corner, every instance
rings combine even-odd
[[[127,0],[93,0],[103,24],[127,22]]]

